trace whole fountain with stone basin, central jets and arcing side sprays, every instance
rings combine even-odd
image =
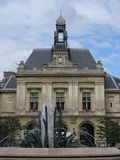
[[[76,133],[68,135],[67,130],[62,123],[62,110],[55,108],[53,112],[52,106],[43,107],[43,111],[38,113],[38,128],[29,131],[25,137],[19,141],[14,147],[3,147],[0,149],[0,160],[9,159],[101,159],[112,160],[120,159],[120,150],[117,148],[102,148],[97,143],[96,147],[91,142],[89,136],[95,141],[95,137],[84,130],[79,132],[91,144],[87,147],[76,138]],[[16,131],[15,131],[16,132]],[[6,138],[0,141],[1,144],[7,143]],[[3,145],[4,146],[4,145]]]

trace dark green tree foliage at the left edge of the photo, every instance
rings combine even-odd
[[[6,137],[17,129],[21,129],[21,124],[18,118],[9,116],[0,119],[0,139]]]

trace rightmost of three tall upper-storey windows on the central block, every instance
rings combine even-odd
[[[90,92],[82,93],[82,105],[83,105],[83,110],[87,111],[91,109],[91,93]]]

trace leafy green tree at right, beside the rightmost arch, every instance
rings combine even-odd
[[[98,122],[98,137],[106,140],[107,146],[115,146],[116,142],[120,142],[120,126],[118,121],[113,121],[106,117],[98,120]]]

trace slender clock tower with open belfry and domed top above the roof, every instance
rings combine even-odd
[[[69,61],[69,47],[67,42],[66,23],[62,15],[56,20],[56,30],[54,31],[54,45],[52,47],[52,62],[63,66]]]

